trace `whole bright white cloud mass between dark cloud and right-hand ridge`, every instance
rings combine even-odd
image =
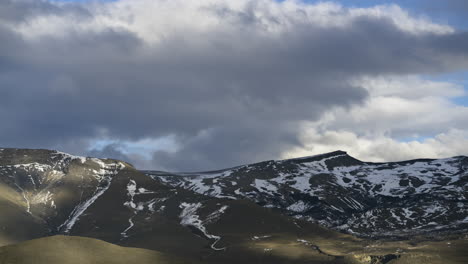
[[[335,109],[302,127],[302,147],[282,157],[337,149],[365,161],[444,158],[468,154],[468,107],[451,101],[462,86],[417,76],[365,77],[370,92],[363,105]]]

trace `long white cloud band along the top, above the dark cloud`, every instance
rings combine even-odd
[[[255,34],[271,35],[301,25],[344,28],[362,18],[388,20],[412,34],[454,32],[448,25],[434,23],[427,17],[412,16],[397,5],[348,8],[334,2],[310,4],[297,0],[120,0],[73,5],[91,15],[46,13],[10,26],[28,39],[124,29],[148,43],[158,43],[174,34],[187,32],[195,36],[250,30]],[[255,20],[255,27],[252,24],[244,27],[247,20]]]

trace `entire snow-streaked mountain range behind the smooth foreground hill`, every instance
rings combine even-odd
[[[0,260],[35,247],[19,242],[52,236],[190,263],[466,263],[467,162],[367,163],[333,152],[168,173],[0,149]]]

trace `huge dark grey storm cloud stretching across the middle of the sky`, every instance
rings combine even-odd
[[[15,8],[26,3],[34,11],[25,17],[56,12],[47,3],[45,11],[24,1]],[[155,168],[222,168],[275,158],[300,144],[299,121],[363,102],[367,92],[348,82],[354,76],[467,66],[463,32],[415,35],[360,18],[265,36],[251,12],[231,15],[234,30],[179,32],[157,45],[119,28],[29,41],[0,27],[0,144],[64,148],[101,136],[175,135],[180,149],[155,153]],[[104,152],[128,157],[115,146]]]

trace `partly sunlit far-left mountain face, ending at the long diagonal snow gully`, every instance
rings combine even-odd
[[[57,151],[1,149],[0,185],[48,233],[67,233],[126,166]]]

